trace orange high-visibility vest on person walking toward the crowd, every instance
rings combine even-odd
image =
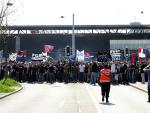
[[[100,71],[100,83],[110,82],[110,69]]]

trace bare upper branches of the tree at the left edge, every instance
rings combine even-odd
[[[10,25],[11,22],[15,24],[22,13],[22,0],[0,0],[0,34],[7,33],[7,30],[2,31],[2,26],[7,29],[7,26]]]

